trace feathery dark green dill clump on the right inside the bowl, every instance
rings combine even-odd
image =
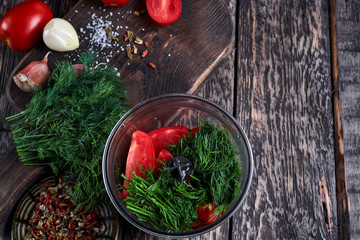
[[[214,202],[217,215],[240,194],[241,169],[229,133],[208,121],[201,120],[199,125],[199,132],[169,146],[169,151],[192,162],[193,175],[199,179],[194,187],[206,189],[205,203]]]

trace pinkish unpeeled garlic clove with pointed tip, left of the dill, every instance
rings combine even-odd
[[[16,85],[24,92],[32,92],[35,87],[42,88],[50,77],[47,65],[48,52],[42,61],[29,63],[24,69],[16,74],[13,79]]]

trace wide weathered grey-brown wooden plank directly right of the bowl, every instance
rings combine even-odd
[[[236,112],[255,167],[234,239],[337,238],[328,10],[327,1],[240,2]]]

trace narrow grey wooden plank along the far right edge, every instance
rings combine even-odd
[[[360,239],[360,2],[336,1],[335,15],[339,105],[350,220],[347,228],[350,227],[351,239]]]

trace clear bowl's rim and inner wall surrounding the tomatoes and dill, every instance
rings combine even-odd
[[[215,222],[186,232],[168,232],[156,229],[140,221],[132,214],[118,194],[117,185],[122,185],[120,173],[125,165],[131,136],[135,130],[150,132],[160,127],[183,125],[192,129],[199,120],[207,120],[230,133],[237,150],[241,168],[241,193],[231,206]],[[115,125],[107,140],[102,163],[103,179],[107,194],[119,213],[131,224],[157,237],[192,237],[210,231],[228,220],[241,206],[250,188],[253,174],[253,157],[249,140],[240,124],[227,111],[201,97],[188,94],[166,94],[145,100],[129,110]]]

